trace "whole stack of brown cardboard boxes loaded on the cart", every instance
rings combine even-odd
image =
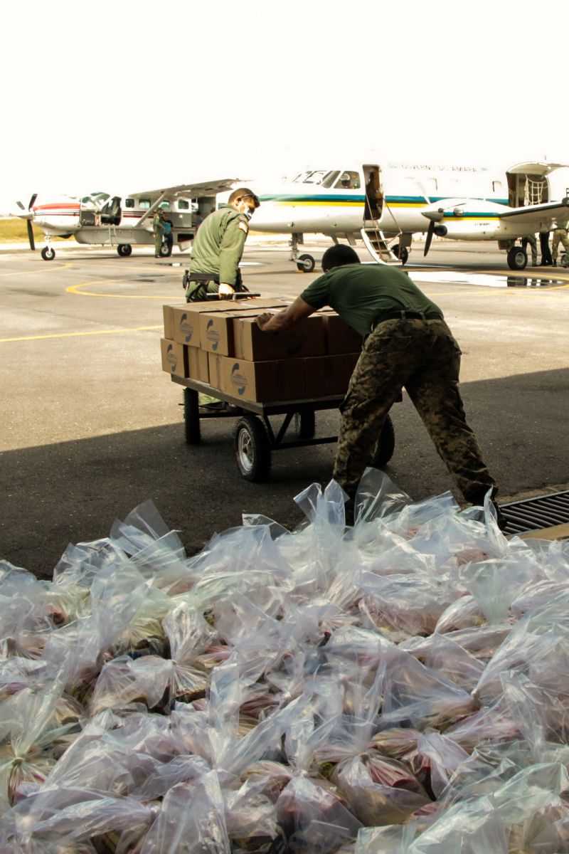
[[[258,314],[286,307],[287,301],[258,298],[164,306],[162,369],[243,401],[345,394],[361,336],[327,309],[287,332],[258,328]]]

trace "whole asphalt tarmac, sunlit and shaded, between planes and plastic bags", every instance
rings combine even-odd
[[[327,245],[303,251],[319,260]],[[69,542],[106,536],[148,499],[189,554],[243,512],[299,524],[294,496],[328,483],[334,444],[273,453],[270,481],[247,483],[234,419],[208,419],[199,446],[184,442],[182,392],[161,371],[160,335],[163,303],[183,302],[187,259],[54,247],[50,262],[0,247],[0,559],[51,577]],[[407,268],[462,347],[467,418],[499,500],[569,488],[569,272],[512,274],[495,244],[434,243],[427,260],[418,244]],[[318,275],[297,272],[284,243],[250,242],[243,261],[247,287],[264,296],[294,297]],[[392,419],[392,480],[415,500],[454,491],[406,395]],[[317,435],[338,424],[337,412],[317,413]]]

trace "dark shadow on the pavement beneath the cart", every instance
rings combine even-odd
[[[569,369],[462,385],[468,421],[502,500],[569,481],[568,387]],[[451,488],[406,396],[392,418],[389,476],[415,500]],[[337,412],[318,413],[317,435],[335,435],[338,423]],[[242,512],[293,529],[303,519],[293,497],[310,483],[328,483],[335,445],[273,453],[270,481],[247,483],[235,465],[234,426],[229,418],[208,420],[200,446],[183,442],[180,422],[3,453],[0,559],[51,577],[68,542],[106,536],[114,518],[148,499],[181,532],[189,554],[215,532],[240,525]]]

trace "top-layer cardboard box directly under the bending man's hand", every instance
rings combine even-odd
[[[247,361],[302,358],[323,355],[324,319],[320,314],[302,320],[286,332],[262,332],[251,315],[233,321],[235,358]]]

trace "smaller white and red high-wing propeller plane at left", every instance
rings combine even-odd
[[[215,208],[218,193],[235,184],[235,178],[222,178],[199,184],[181,184],[164,190],[143,190],[128,196],[91,193],[82,198],[61,196],[41,200],[34,193],[27,209],[18,202],[21,219],[26,219],[30,248],[35,249],[33,225],[44,232],[44,260],[55,258],[52,237],[74,237],[78,243],[116,246],[121,257],[132,252],[132,246],[154,244],[153,219],[157,210],[170,214],[174,243],[187,249],[194,239],[195,228]],[[170,254],[163,244],[160,254]]]

